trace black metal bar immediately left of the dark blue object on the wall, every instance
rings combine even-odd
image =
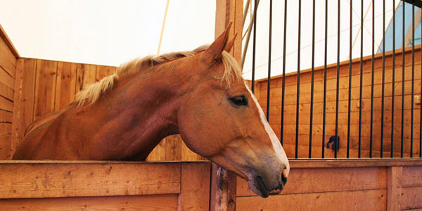
[[[326,107],[327,107],[327,26],[328,26],[328,0],[326,0],[325,10],[325,37],[324,37],[324,110],[322,120],[322,154],[321,158],[325,158],[325,132],[326,132]]]

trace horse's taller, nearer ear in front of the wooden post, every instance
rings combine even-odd
[[[205,50],[203,56],[207,62],[214,63],[215,60],[222,57],[222,52],[227,44],[227,39],[229,38],[229,31],[232,23],[227,25],[226,30],[220,34],[217,39]]]

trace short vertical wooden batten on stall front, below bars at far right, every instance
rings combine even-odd
[[[401,210],[403,167],[388,167],[387,172],[387,210]]]

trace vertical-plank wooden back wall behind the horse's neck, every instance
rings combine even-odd
[[[10,79],[17,90],[15,98],[11,98],[11,101],[15,101],[13,114],[15,122],[12,125],[10,120],[6,124],[9,139],[6,145],[11,146],[8,148],[12,148],[12,153],[16,144],[23,139],[25,129],[31,122],[41,115],[66,108],[75,100],[75,95],[79,91],[113,74],[116,70],[116,67],[110,66],[35,58],[20,58],[16,63],[16,79]],[[7,104],[10,112],[13,110],[13,101]],[[11,118],[11,113],[9,115]],[[10,143],[12,127],[13,141]],[[161,141],[147,160],[203,160],[203,158],[190,151],[177,135]]]

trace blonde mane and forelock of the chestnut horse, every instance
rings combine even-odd
[[[103,94],[113,89],[113,87],[118,81],[132,76],[137,72],[140,72],[141,70],[152,68],[154,65],[159,65],[161,63],[165,63],[170,60],[175,60],[177,58],[193,56],[195,53],[205,51],[207,47],[208,46],[200,46],[198,49],[195,49],[193,51],[165,53],[160,56],[146,56],[144,58],[136,58],[134,60],[130,60],[129,62],[120,65],[120,67],[117,68],[116,72],[113,73],[113,75],[104,77],[99,82],[91,84],[89,85],[89,87],[87,87],[87,89],[80,91],[76,96],[75,103],[77,104],[77,106],[84,106],[87,103],[95,103],[96,101],[98,101],[98,98],[100,98]],[[230,87],[232,79],[243,79],[242,70],[233,56],[231,56],[226,51],[223,51],[222,61],[224,65],[223,75],[221,77],[215,78],[221,79],[222,82],[226,82],[228,87]]]

